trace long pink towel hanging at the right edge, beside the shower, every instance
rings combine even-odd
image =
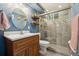
[[[77,14],[71,22],[71,40],[68,42],[73,53],[77,52],[78,43],[78,19],[79,14]]]

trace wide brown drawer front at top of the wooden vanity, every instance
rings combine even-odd
[[[24,39],[20,39],[19,41],[14,42],[14,50],[18,50],[19,48],[23,48],[29,45],[33,45],[35,43],[39,43],[38,36],[32,36]]]

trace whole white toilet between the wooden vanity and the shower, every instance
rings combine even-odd
[[[49,42],[45,40],[40,40],[40,54],[46,55],[47,54],[47,48],[49,46]]]

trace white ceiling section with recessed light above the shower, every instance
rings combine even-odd
[[[71,3],[40,3],[46,11],[58,11],[71,7]]]

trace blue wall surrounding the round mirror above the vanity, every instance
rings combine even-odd
[[[24,30],[28,30],[28,26],[30,26],[30,31],[31,32],[37,32],[38,31],[38,27],[36,26],[32,26],[31,25],[31,15],[36,13],[35,10],[33,10],[32,8],[30,8],[29,6],[24,6],[22,4],[19,4],[19,3],[15,3],[15,4],[12,4],[12,3],[1,3],[0,4],[0,10],[3,10],[7,16],[8,16],[8,19],[10,21],[10,25],[11,27],[7,30],[7,31],[20,31],[20,29],[17,29],[13,23],[12,23],[12,20],[11,20],[11,14],[12,14],[12,11],[15,9],[15,8],[19,8],[21,10],[23,10],[27,16],[27,24],[24,28]]]

